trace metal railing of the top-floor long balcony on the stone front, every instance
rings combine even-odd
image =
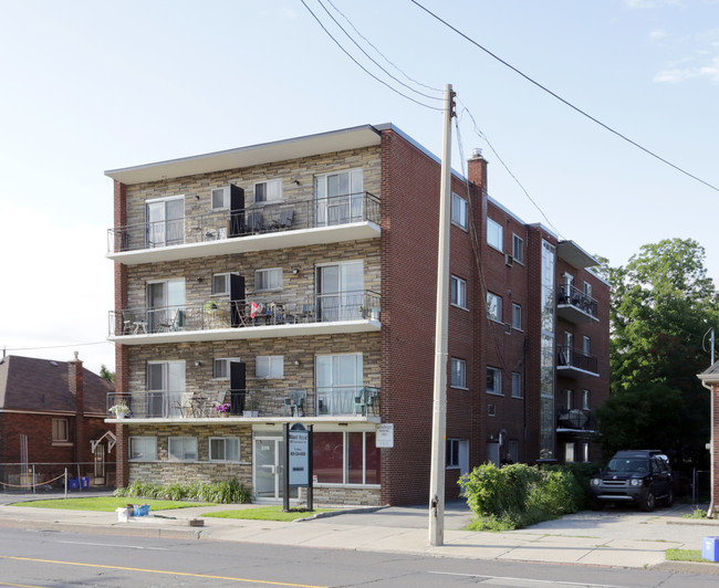
[[[379,199],[371,192],[116,227],[107,231],[107,252],[113,254],[363,221],[379,223]]]

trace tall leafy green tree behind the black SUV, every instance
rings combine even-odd
[[[600,273],[612,286],[611,397],[597,411],[603,449],[661,449],[675,464],[706,463],[709,367],[702,338],[719,305],[705,250],[691,239],[640,248],[627,265]]]

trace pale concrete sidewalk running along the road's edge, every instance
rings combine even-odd
[[[40,496],[38,496],[40,497]],[[17,497],[18,501],[25,500]],[[719,574],[719,564],[665,561],[669,548],[701,549],[707,536],[719,536],[719,521],[682,518],[687,505],[654,513],[608,508],[581,512],[533,527],[504,533],[461,531],[471,519],[466,505],[448,504],[445,540],[428,542],[426,507],[348,510],[294,523],[205,517],[212,511],[258,505],[218,505],[152,512],[119,522],[117,513],[59,511],[0,505],[0,526],[73,531],[163,538],[294,545],[329,549],[411,553],[439,557],[542,561],[609,567],[680,569]],[[200,519],[202,526],[190,526]]]

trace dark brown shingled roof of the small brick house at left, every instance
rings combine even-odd
[[[105,413],[115,386],[83,368],[85,413]],[[69,363],[12,355],[0,359],[0,410],[75,412]]]

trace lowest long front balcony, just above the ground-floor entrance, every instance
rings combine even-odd
[[[131,422],[213,422],[227,418],[257,422],[312,419],[379,422],[379,388],[334,386],[305,389],[247,388],[110,392],[107,418]],[[229,412],[218,407],[229,405]],[[117,408],[119,407],[119,408]]]

